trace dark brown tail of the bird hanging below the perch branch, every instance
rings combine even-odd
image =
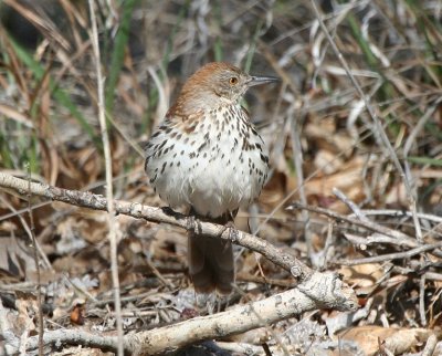
[[[213,219],[218,223],[228,221]],[[229,241],[190,232],[188,253],[189,273],[197,293],[210,293],[214,290],[220,294],[232,292],[234,259]]]

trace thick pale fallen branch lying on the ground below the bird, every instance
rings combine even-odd
[[[308,291],[308,293],[306,293]],[[316,291],[316,292],[314,292]],[[313,300],[308,294],[320,300]],[[221,338],[262,327],[317,308],[354,310],[352,290],[334,273],[314,273],[303,285],[262,301],[239,305],[227,312],[194,317],[181,323],[124,337],[125,354],[158,355],[173,352],[202,339]],[[71,344],[115,350],[115,336],[97,336],[80,331],[53,331],[44,334],[44,344]],[[28,350],[38,346],[36,336],[30,337]]]

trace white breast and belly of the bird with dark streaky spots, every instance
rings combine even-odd
[[[159,196],[201,216],[217,218],[249,205],[267,178],[264,142],[239,104],[208,111],[187,125],[166,118],[146,154],[146,172]]]

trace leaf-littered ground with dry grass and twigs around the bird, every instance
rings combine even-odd
[[[227,61],[277,75],[278,85],[250,91],[244,103],[272,171],[236,228],[340,273],[360,305],[178,354],[442,355],[440,1],[93,2],[115,198],[164,206],[144,174],[143,146],[200,65]],[[0,4],[0,168],[104,195],[88,3],[54,3]],[[186,231],[116,220],[125,333],[295,286],[288,272],[238,248],[234,293],[197,306]],[[115,335],[109,254],[105,212],[0,190],[0,354],[10,352],[7,332],[20,339],[15,352],[36,353],[25,345],[39,333],[39,311],[44,331]],[[46,345],[44,353],[105,352]]]

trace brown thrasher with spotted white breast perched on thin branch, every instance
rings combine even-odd
[[[224,62],[200,67],[146,145],[149,182],[170,208],[233,224],[256,199],[269,175],[269,150],[241,100],[254,86],[278,81],[249,75]],[[228,295],[235,280],[232,244],[189,231],[189,275],[197,293]]]

